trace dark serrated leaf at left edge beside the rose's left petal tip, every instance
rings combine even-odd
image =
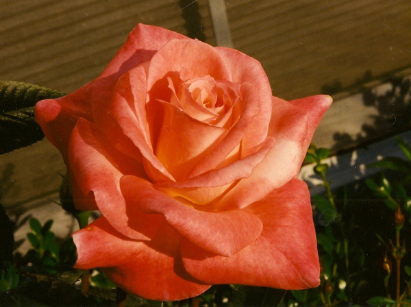
[[[34,106],[64,93],[23,82],[0,80],[0,154],[31,145],[44,137],[34,121]]]

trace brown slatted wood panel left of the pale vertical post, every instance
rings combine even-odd
[[[190,36],[186,12],[197,13],[203,40],[214,44],[207,1],[182,10],[184,2],[0,0],[0,79],[70,93],[103,71],[137,23]]]

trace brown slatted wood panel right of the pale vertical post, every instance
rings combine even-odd
[[[411,1],[225,1],[234,47],[295,99],[411,64]],[[338,90],[338,88],[337,88]]]

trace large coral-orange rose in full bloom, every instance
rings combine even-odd
[[[94,81],[40,101],[67,167],[76,267],[148,299],[211,284],[319,285],[306,184],[296,179],[328,96],[272,97],[260,63],[138,25]]]

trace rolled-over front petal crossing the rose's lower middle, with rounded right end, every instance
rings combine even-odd
[[[136,206],[148,214],[162,214],[181,236],[214,254],[235,254],[256,240],[262,229],[260,220],[249,212],[199,211],[135,176],[121,178],[121,191],[128,206]],[[233,232],[235,228],[237,230]]]

